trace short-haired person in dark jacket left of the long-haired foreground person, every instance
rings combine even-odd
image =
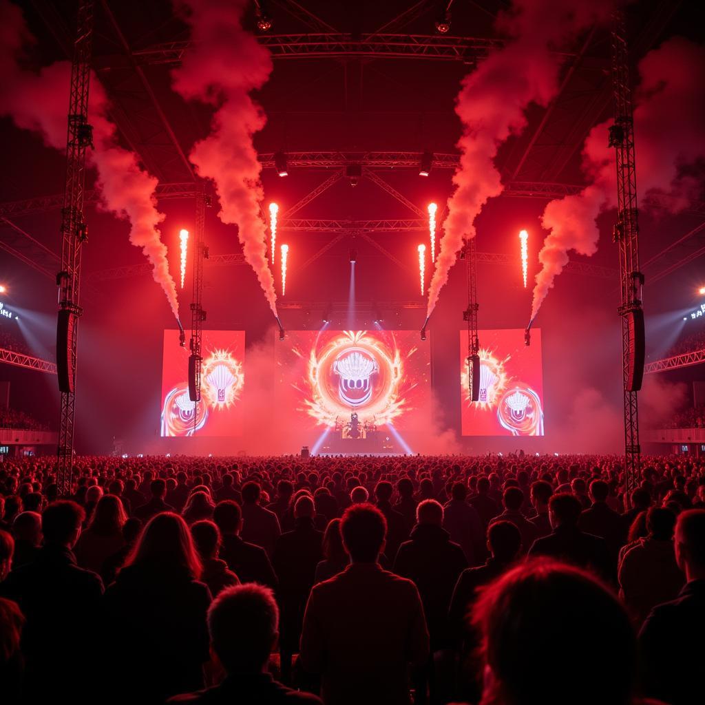
[[[22,651],[29,702],[84,701],[66,678],[77,663],[86,675],[83,693],[86,700],[89,697],[103,583],[94,572],[76,565],[72,549],[84,520],[85,512],[75,502],[51,503],[42,513],[44,546],[0,583],[0,596],[18,603],[26,619]]]

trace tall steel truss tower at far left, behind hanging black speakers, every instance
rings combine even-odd
[[[93,0],[80,0],[76,39],[71,66],[71,98],[68,109],[66,146],[66,188],[61,212],[61,271],[59,286],[59,326],[66,326],[68,385],[61,391],[56,484],[59,494],[71,494],[73,470],[73,424],[75,418],[75,374],[78,362],[78,319],[81,278],[81,248],[87,239],[83,217],[86,148],[92,146],[92,126],[88,123],[88,90],[93,35]],[[60,350],[56,351],[61,355]],[[61,386],[61,381],[60,381]]]

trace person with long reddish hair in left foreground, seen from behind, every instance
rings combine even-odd
[[[203,687],[211,594],[186,522],[152,517],[104,598],[106,699],[161,703]]]

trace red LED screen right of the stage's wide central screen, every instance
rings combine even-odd
[[[471,401],[467,331],[460,331],[460,399],[463,436],[543,436],[544,385],[541,331],[479,331],[479,400]]]

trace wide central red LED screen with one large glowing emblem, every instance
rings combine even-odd
[[[345,434],[353,418],[355,434],[429,423],[429,341],[419,331],[286,331],[275,349],[278,417],[302,443],[326,429]]]

